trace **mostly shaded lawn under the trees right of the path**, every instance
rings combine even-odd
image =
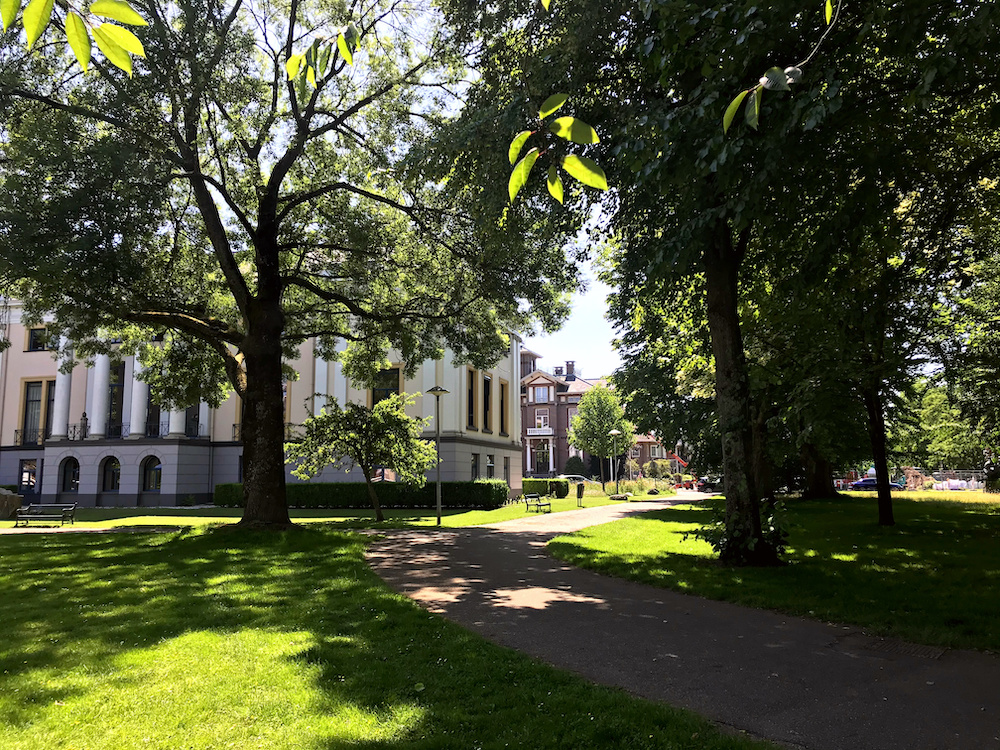
[[[896,526],[886,528],[873,493],[789,502],[782,568],[726,568],[706,543],[685,541],[710,517],[694,505],[584,529],[548,549],[574,565],[713,599],[1000,652],[1000,498],[913,494],[893,493]]]

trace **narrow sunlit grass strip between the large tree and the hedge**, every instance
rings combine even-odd
[[[583,498],[585,508],[610,505],[613,501],[607,495],[589,495]],[[577,510],[576,496],[552,499],[552,512]],[[386,520],[375,521],[371,508],[350,510],[299,510],[289,511],[297,523],[333,523],[343,528],[405,528],[410,526],[433,526],[437,522],[437,512],[432,508],[417,510],[383,510]],[[524,503],[511,503],[496,510],[447,510],[441,513],[441,525],[448,527],[474,526],[483,523],[497,523],[514,518],[534,515],[525,509]],[[206,526],[209,524],[236,523],[243,516],[240,508],[78,508],[76,526],[82,528],[116,528],[122,526]],[[58,525],[58,524],[57,524]],[[13,521],[0,522],[0,530],[12,528]],[[35,526],[35,524],[32,524]]]

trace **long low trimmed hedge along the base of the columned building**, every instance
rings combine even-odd
[[[289,508],[370,508],[364,482],[303,482],[286,486]],[[436,485],[411,487],[397,482],[377,482],[375,494],[383,508],[434,508]],[[441,507],[493,510],[507,502],[510,488],[502,479],[474,482],[441,482]],[[215,504],[222,508],[243,507],[242,484],[215,485]]]

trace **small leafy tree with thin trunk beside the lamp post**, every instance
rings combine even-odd
[[[406,484],[422,487],[425,472],[437,460],[434,443],[420,439],[430,420],[406,414],[413,399],[412,395],[393,395],[371,409],[360,404],[347,404],[343,409],[336,402],[328,405],[303,423],[301,440],[285,444],[286,461],[297,464],[292,474],[312,479],[327,466],[345,471],[359,467],[375,518],[384,521],[372,482],[376,468],[390,468]]]

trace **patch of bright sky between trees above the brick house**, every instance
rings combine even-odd
[[[572,360],[579,374],[598,378],[610,375],[621,364],[611,348],[614,329],[604,319],[611,287],[597,281],[589,269],[585,276],[587,291],[573,298],[573,311],[562,330],[524,340],[528,349],[541,355],[538,365],[543,370],[552,372],[555,367]]]

